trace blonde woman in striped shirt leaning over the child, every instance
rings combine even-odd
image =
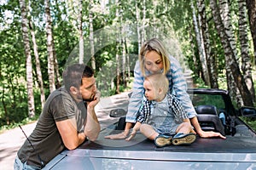
[[[125,131],[119,134],[108,135],[105,138],[125,139],[129,135],[131,127],[137,122],[137,113],[142,105],[144,77],[159,72],[165,74],[168,78],[170,93],[175,95],[181,102],[181,105],[183,105],[184,110],[189,115],[191,124],[195,127],[196,133],[201,138],[220,137],[225,139],[220,133],[202,131],[194,106],[189,99],[189,94],[186,92],[187,83],[183,77],[183,71],[177,59],[167,54],[163,43],[157,38],[144,42],[140,50],[139,60],[134,69],[133,89],[125,120]]]

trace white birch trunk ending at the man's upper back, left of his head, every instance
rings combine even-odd
[[[45,16],[46,16],[46,35],[47,35],[47,52],[48,52],[48,76],[49,76],[49,92],[55,90],[55,57],[53,46],[53,35],[51,26],[51,16],[49,10],[49,0],[45,0]]]

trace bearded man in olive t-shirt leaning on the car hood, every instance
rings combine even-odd
[[[37,126],[18,150],[15,169],[41,169],[62,150],[97,139],[94,108],[100,100],[90,67],[75,64],[63,71],[64,86],[49,95]]]

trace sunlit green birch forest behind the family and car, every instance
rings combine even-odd
[[[255,0],[0,0],[0,126],[36,120],[74,62],[102,96],[131,88],[142,42],[158,37],[196,88],[255,107]],[[254,82],[253,82],[254,81]],[[254,125],[255,126],[255,125]],[[255,126],[256,127],[256,126]]]

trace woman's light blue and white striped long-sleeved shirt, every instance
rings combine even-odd
[[[189,94],[187,93],[187,82],[183,77],[183,71],[178,63],[177,59],[170,56],[171,68],[166,73],[166,77],[169,80],[169,90],[170,94],[176,96],[176,98],[180,101],[181,105],[183,105],[184,110],[188,113],[189,118],[195,117],[196,112],[194,106],[192,105],[191,99],[189,99]],[[146,74],[149,74],[146,72]],[[134,68],[134,81],[131,99],[128,105],[128,112],[126,115],[126,122],[137,122],[137,115],[139,113],[139,109],[142,105],[143,101],[143,88],[144,77],[139,65],[139,61],[137,61]]]

